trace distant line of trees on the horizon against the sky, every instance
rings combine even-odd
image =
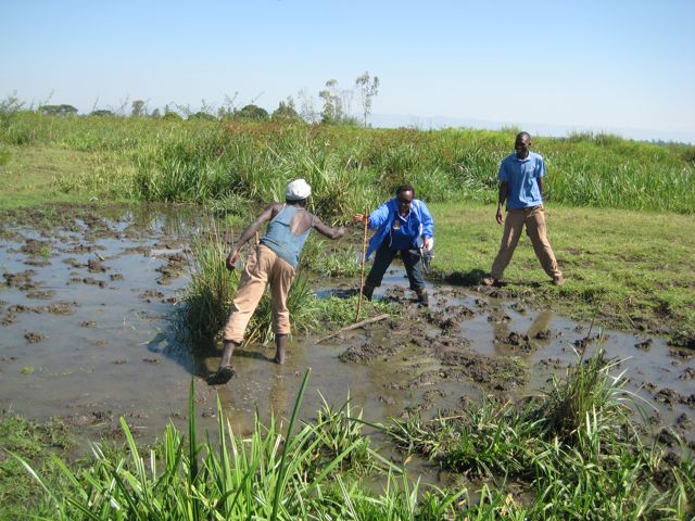
[[[329,79],[325,88],[319,90],[318,99],[320,107],[316,109],[317,100],[306,91],[298,93],[298,102],[293,97],[288,97],[280,101],[278,107],[268,113],[262,106],[255,104],[255,100],[241,107],[237,107],[236,99],[238,92],[232,97],[226,96],[220,106],[215,107],[202,100],[199,111],[192,111],[189,105],[170,103],[164,106],[163,111],[155,107],[150,110],[147,100],[126,99],[121,102],[116,110],[97,109],[97,103],[89,113],[97,117],[150,117],[164,119],[217,119],[217,120],[282,120],[282,122],[307,122],[323,123],[326,125],[364,125],[368,126],[368,118],[371,114],[371,102],[379,92],[379,78],[369,76],[368,72],[355,79],[353,89],[341,89],[338,80]],[[361,103],[359,117],[352,113],[352,102],[358,96]],[[51,94],[52,96],[52,94]],[[25,103],[16,97],[16,92],[10,94],[0,102],[0,113],[17,112],[26,109]],[[48,116],[75,116],[77,109],[68,104],[49,104],[48,101],[39,103],[37,112]]]

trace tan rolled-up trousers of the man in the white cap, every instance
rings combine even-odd
[[[290,333],[290,312],[287,308],[287,295],[294,279],[294,268],[290,263],[269,247],[258,244],[249,255],[239,280],[237,294],[231,301],[231,314],[225,326],[225,341],[241,343],[265,292],[270,283],[273,293],[273,331],[276,334]]]

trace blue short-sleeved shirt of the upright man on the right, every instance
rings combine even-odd
[[[500,165],[500,181],[509,183],[507,208],[529,208],[543,204],[538,180],[545,176],[543,157],[529,152],[526,160],[517,154],[505,157]]]

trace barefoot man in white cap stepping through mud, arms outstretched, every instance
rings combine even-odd
[[[273,292],[273,332],[277,352],[275,361],[285,363],[287,336],[290,333],[290,312],[287,295],[299,265],[300,254],[312,228],[329,239],[340,239],[343,227],[331,228],[306,211],[312,188],[304,179],[295,179],[287,186],[285,204],[273,203],[243,231],[227,257],[227,269],[233,269],[239,251],[264,223],[268,229],[245,262],[237,294],[231,302],[231,314],[223,336],[224,352],[217,372],[207,383],[226,383],[233,376],[231,355],[241,345],[243,333],[255,312],[265,288],[270,283]]]

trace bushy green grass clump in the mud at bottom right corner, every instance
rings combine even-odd
[[[665,458],[642,442],[624,377],[611,374],[617,365],[601,348],[587,359],[581,353],[541,396],[392,420],[387,432],[468,479],[502,483],[485,519],[690,519],[692,452]],[[494,506],[505,491],[511,499]]]

